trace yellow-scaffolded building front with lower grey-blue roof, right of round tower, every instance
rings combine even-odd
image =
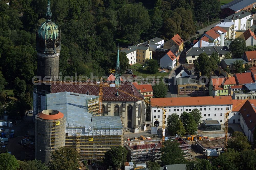
[[[101,161],[110,147],[123,145],[123,126],[118,116],[94,116],[91,120],[91,129],[66,127],[66,147],[75,147],[81,160]]]

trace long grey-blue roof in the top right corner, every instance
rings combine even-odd
[[[222,5],[220,8],[225,9],[225,8],[230,8],[234,11],[243,9],[244,7],[253,4],[256,2],[255,0],[234,0],[231,1],[230,3],[227,3],[225,5]]]

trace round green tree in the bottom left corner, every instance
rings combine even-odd
[[[15,156],[9,153],[1,153],[0,161],[0,169],[15,170],[19,168],[19,163],[16,160]]]

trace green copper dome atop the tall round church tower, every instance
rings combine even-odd
[[[56,39],[58,37],[58,26],[55,25],[52,21],[46,21],[42,23],[40,28],[38,29],[38,36],[42,39]]]

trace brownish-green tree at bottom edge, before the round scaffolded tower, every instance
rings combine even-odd
[[[59,147],[59,150],[51,152],[51,159],[49,168],[52,170],[77,170],[79,168],[80,156],[73,148]]]

